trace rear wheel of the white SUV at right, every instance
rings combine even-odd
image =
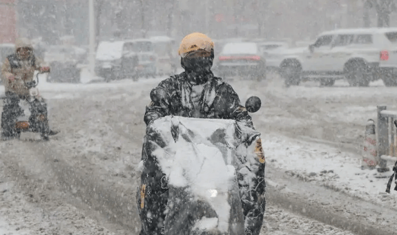
[[[369,75],[364,62],[353,61],[345,66],[347,82],[350,86],[369,86]]]

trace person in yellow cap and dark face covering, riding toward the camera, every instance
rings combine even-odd
[[[215,77],[211,71],[214,59],[213,48],[213,41],[202,33],[195,32],[182,39],[179,55],[184,72],[165,79],[151,91],[151,103],[146,106],[144,115],[147,130],[155,120],[168,115],[235,120],[253,129],[251,116],[246,108],[240,105],[238,94],[220,77]],[[153,142],[151,138],[156,136],[146,133],[142,149],[144,167],[140,193],[138,191],[138,194],[142,195],[137,195],[139,216],[142,221],[140,235],[162,234],[164,220],[169,213],[167,176],[156,160],[148,156],[151,154],[151,142]],[[258,149],[262,151],[262,147]],[[250,176],[255,176],[254,182],[249,185],[248,191],[247,188],[240,187],[245,220],[243,229],[245,234],[259,234],[266,204],[264,161],[258,162],[258,165],[252,167],[250,171]]]

